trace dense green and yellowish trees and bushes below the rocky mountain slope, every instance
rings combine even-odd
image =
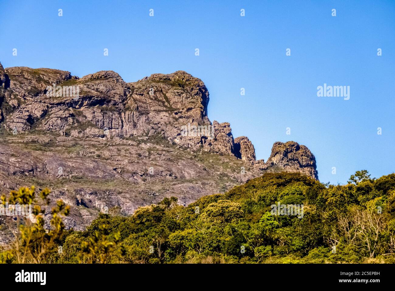
[[[13,195],[15,201],[23,197]],[[278,202],[303,205],[303,218],[273,215],[271,205]],[[0,261],[395,263],[395,174],[373,179],[358,171],[347,185],[336,186],[298,173],[266,173],[188,207],[172,197],[130,217],[113,208],[83,232],[64,230],[59,218],[68,208],[61,201],[52,214],[50,232],[40,219],[21,223],[23,236],[0,253]]]

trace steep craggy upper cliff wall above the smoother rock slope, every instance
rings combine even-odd
[[[209,92],[203,82],[184,71],[154,74],[135,83],[125,83],[113,71],[100,71],[81,79],[70,72],[50,69],[8,68],[11,105],[5,127],[17,133],[53,131],[70,137],[128,138],[162,135],[192,150],[232,154],[229,124],[212,125],[207,117]],[[62,90],[47,94],[47,87],[74,86],[79,96]],[[55,96],[54,93],[56,92]],[[70,93],[70,91],[66,91]],[[182,126],[213,126],[214,136],[188,132]]]

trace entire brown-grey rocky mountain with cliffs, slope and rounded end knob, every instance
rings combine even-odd
[[[132,214],[170,196],[187,205],[265,171],[318,179],[314,155],[293,141],[256,161],[247,137],[209,120],[208,103],[185,71],[126,83],[114,71],[0,64],[0,191],[48,187],[72,208],[66,226],[84,229],[99,211]]]

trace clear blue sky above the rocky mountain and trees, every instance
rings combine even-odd
[[[210,120],[248,136],[257,158],[293,140],[322,182],[395,169],[395,1],[0,0],[0,24],[4,67],[114,70],[126,82],[184,70],[209,89]],[[350,100],[317,97],[324,83],[350,86]]]

